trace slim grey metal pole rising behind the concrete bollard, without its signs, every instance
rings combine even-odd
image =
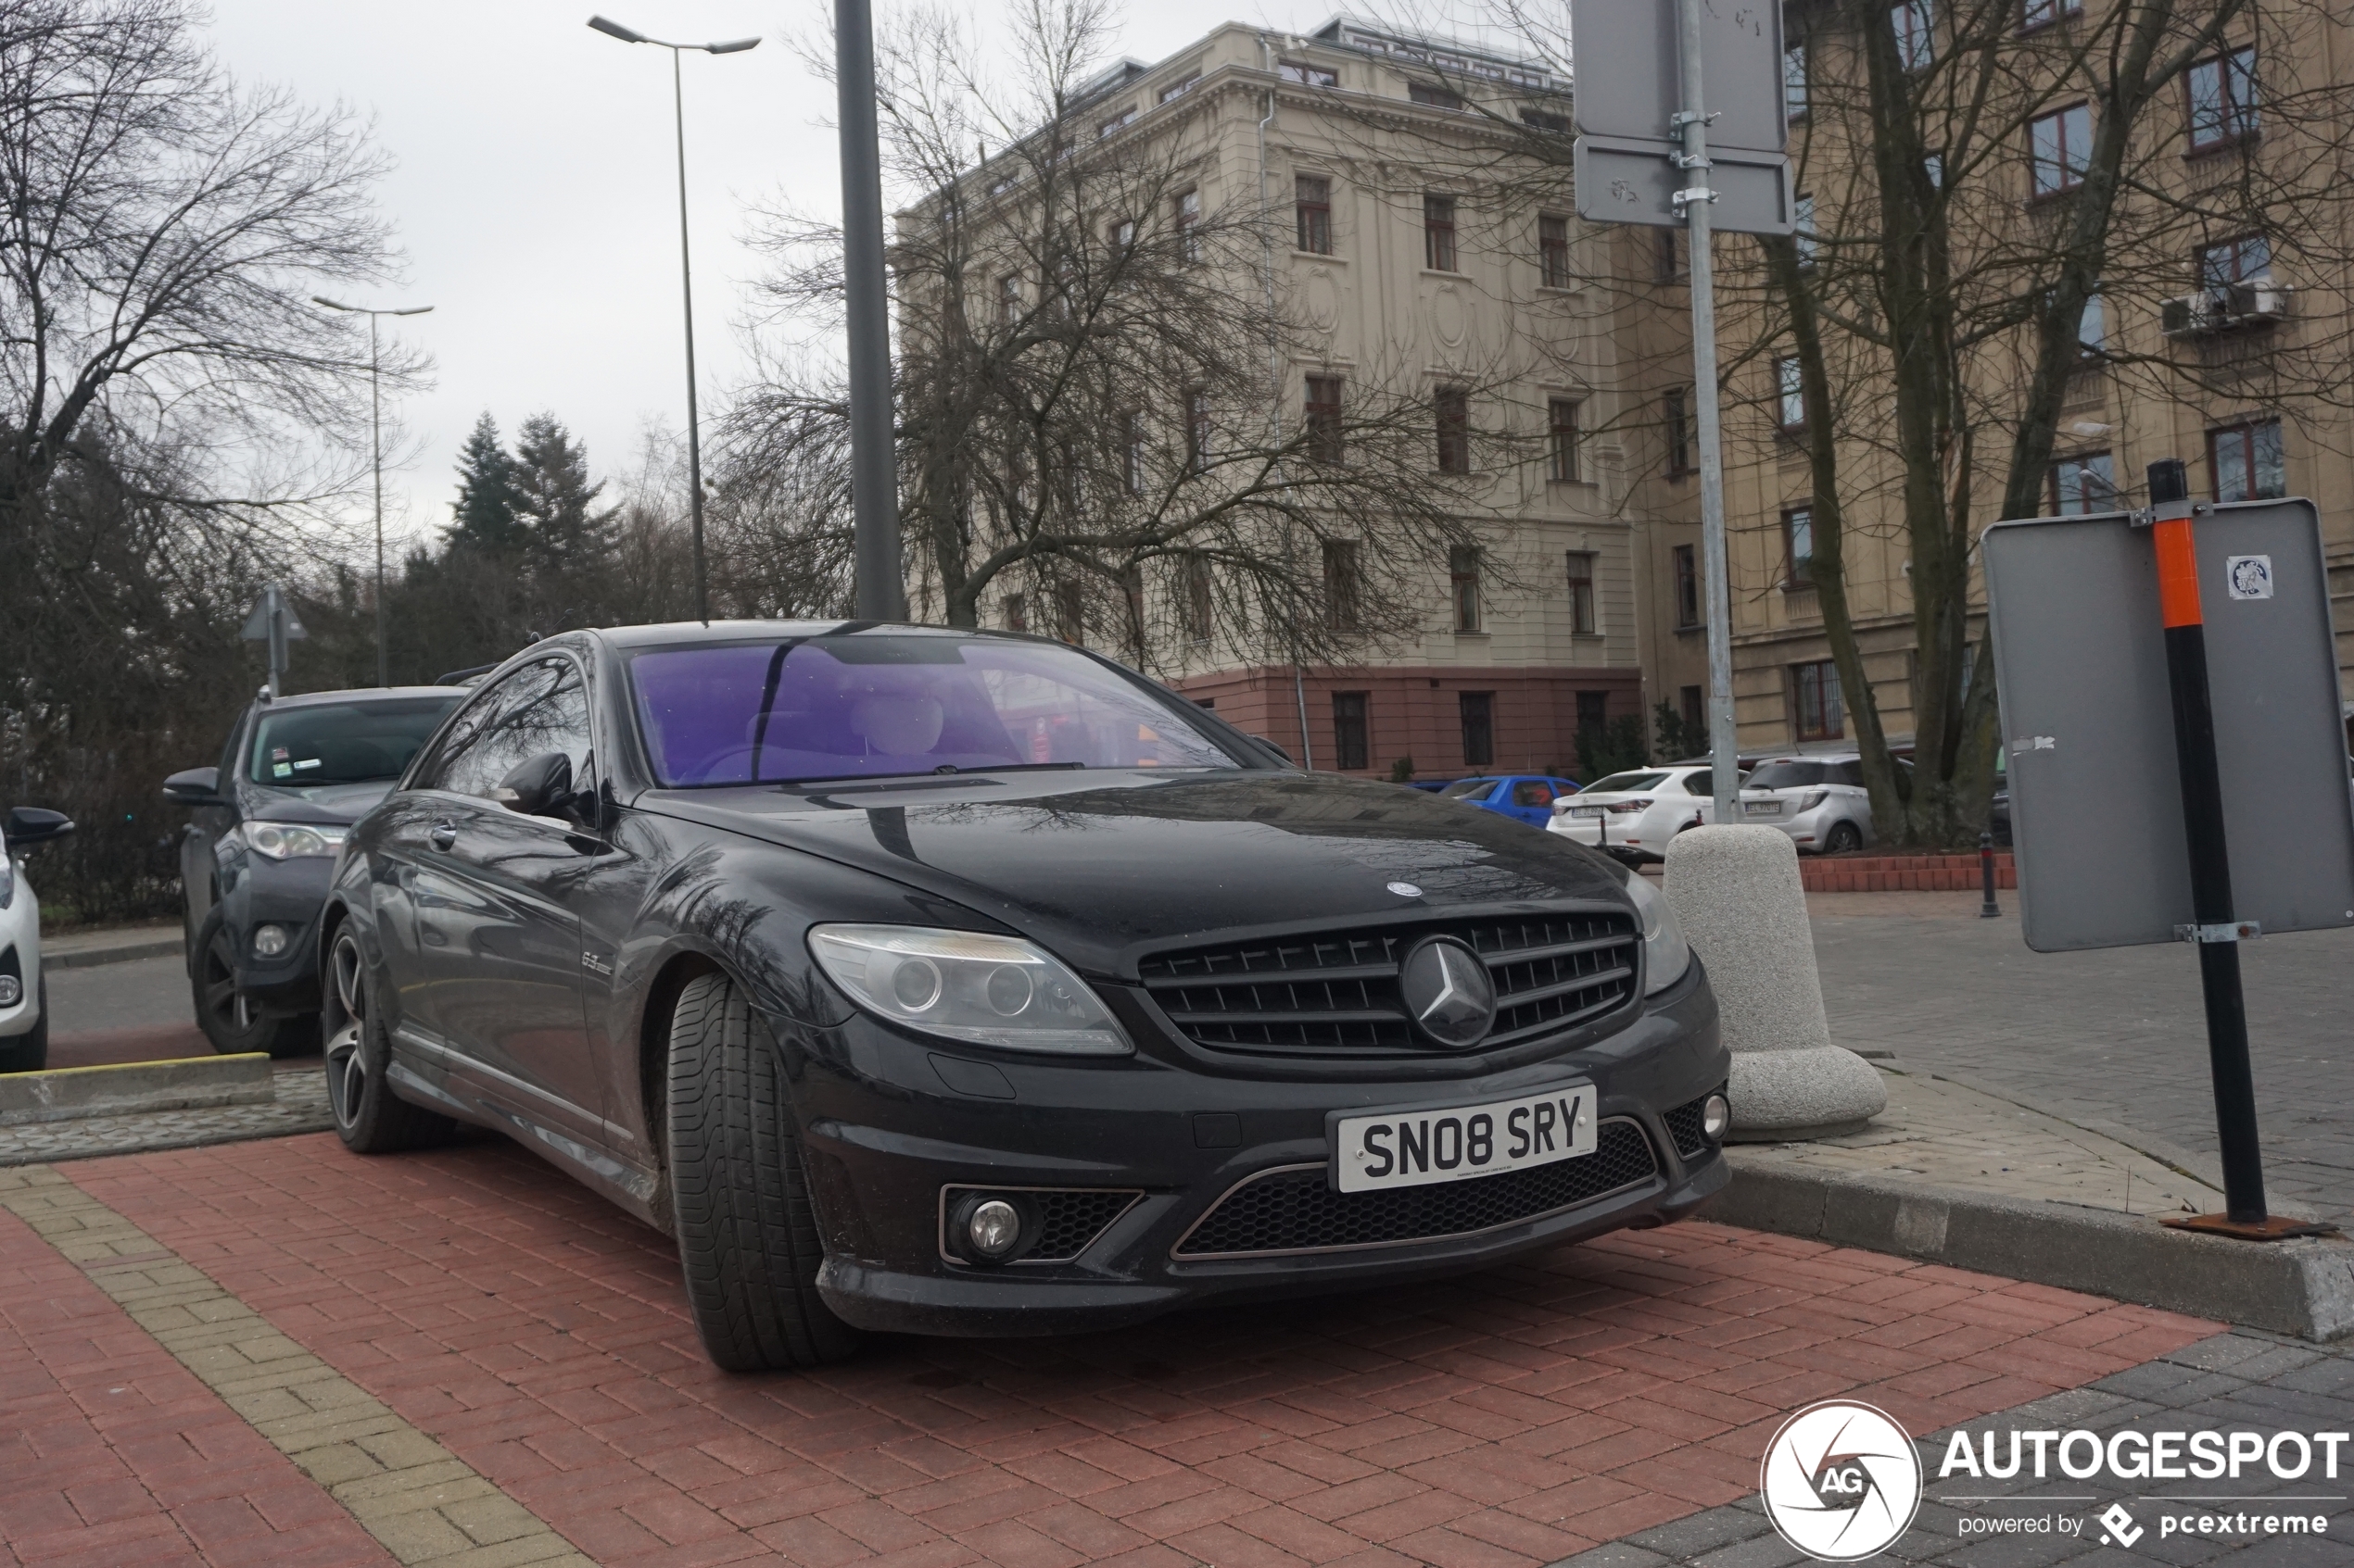
[[[1725,465],[1716,421],[1716,270],[1709,252],[1709,120],[1700,82],[1700,5],[1676,0],[1683,66],[1683,221],[1693,266],[1693,402],[1700,404],[1700,555],[1709,595],[1709,757],[1716,820],[1740,818],[1740,736],[1733,726],[1733,585],[1725,576]]]

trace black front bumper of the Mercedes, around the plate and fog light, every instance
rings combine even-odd
[[[1219,1077],[1151,1051],[1095,1063],[965,1056],[864,1018],[817,1032],[779,1025],[779,1039],[826,1237],[817,1288],[836,1314],[873,1331],[1069,1333],[1208,1302],[1462,1274],[1678,1220],[1728,1180],[1718,1150],[1678,1154],[1664,1121],[1725,1081],[1716,1001],[1697,964],[1615,1034],[1455,1079],[1372,1070],[1339,1081]],[[1285,1246],[1274,1255],[1179,1253],[1238,1185],[1323,1166],[1335,1110],[1464,1105],[1568,1084],[1596,1086],[1605,1128],[1617,1121],[1641,1133],[1648,1175],[1443,1237],[1346,1251]],[[1102,1190],[1118,1194],[1109,1204],[1116,1218],[1066,1260],[975,1265],[953,1258],[944,1239],[951,1187]]]

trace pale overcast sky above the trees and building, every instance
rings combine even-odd
[[[1005,0],[972,0],[986,19]],[[737,322],[758,273],[744,207],[779,197],[840,209],[833,89],[789,33],[824,28],[822,0],[214,0],[214,47],[242,80],[341,99],[395,160],[379,200],[407,252],[386,322],[435,360],[435,388],[400,409],[414,456],[386,475],[386,531],[450,520],[452,463],[480,411],[513,437],[541,409],[629,463],[647,418],[685,423],[678,188],[669,52],[588,31],[596,7],[664,38],[760,33],[749,54],[687,54],[687,200],[694,324],[709,409],[744,364]],[[1306,28],[1332,0],[1132,0],[1121,52],[1161,59],[1219,21]]]

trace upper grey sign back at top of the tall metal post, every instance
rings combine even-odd
[[[1570,63],[1582,136],[1678,141],[1676,0],[1570,0]],[[1709,92],[1709,158],[1789,146],[1780,2],[1700,0],[1700,71]],[[1728,228],[1723,205],[1711,226]]]

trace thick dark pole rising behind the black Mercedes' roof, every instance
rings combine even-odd
[[[850,303],[850,505],[859,621],[906,618],[899,470],[892,454],[890,282],[883,275],[883,146],[866,0],[833,0],[833,82],[843,127],[843,289]]]

